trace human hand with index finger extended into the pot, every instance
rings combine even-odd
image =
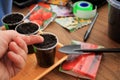
[[[27,45],[42,42],[41,36],[25,36],[13,30],[0,31],[0,80],[9,80],[25,65]]]

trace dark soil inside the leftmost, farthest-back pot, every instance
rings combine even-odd
[[[20,15],[20,14],[11,14],[11,15],[6,16],[3,19],[3,22],[7,23],[7,24],[13,24],[13,23],[20,22],[22,19],[23,19],[23,15]]]

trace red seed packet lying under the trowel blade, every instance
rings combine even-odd
[[[81,48],[95,49],[101,46],[83,43]],[[69,55],[68,59],[64,61],[60,66],[60,71],[75,77],[95,80],[99,65],[101,62],[102,53],[95,54],[83,54],[83,55]]]

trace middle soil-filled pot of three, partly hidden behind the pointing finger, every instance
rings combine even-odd
[[[25,22],[16,26],[15,30],[24,35],[36,35],[39,33],[39,25],[33,22]],[[34,53],[32,45],[28,45],[28,53]]]

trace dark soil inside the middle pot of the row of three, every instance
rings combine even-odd
[[[23,23],[17,27],[17,32],[21,34],[30,34],[38,30],[38,25],[33,23]]]

